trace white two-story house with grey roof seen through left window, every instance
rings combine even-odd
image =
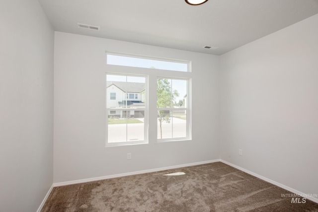
[[[145,108],[145,83],[140,82],[106,82],[107,108]],[[144,111],[110,110],[108,117],[144,118]]]

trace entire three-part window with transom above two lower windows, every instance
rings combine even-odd
[[[107,146],[191,139],[190,62],[106,57]]]

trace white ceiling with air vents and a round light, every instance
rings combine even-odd
[[[39,0],[56,31],[221,55],[318,13],[318,0]],[[100,26],[80,29],[77,23]],[[204,46],[218,47],[205,49]]]

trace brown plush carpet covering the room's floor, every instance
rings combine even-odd
[[[282,194],[291,193],[216,162],[56,187],[42,212],[318,212]]]

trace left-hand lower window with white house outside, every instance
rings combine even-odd
[[[146,95],[146,77],[134,75],[113,75],[106,74],[106,95],[112,97],[110,91],[116,90],[117,101],[106,100],[108,114],[107,122],[107,143],[129,144],[145,142],[145,112],[146,99],[132,102],[126,100],[135,97],[135,94],[128,93],[130,89]],[[106,99],[109,99],[108,97]],[[110,98],[111,99],[111,98]]]

